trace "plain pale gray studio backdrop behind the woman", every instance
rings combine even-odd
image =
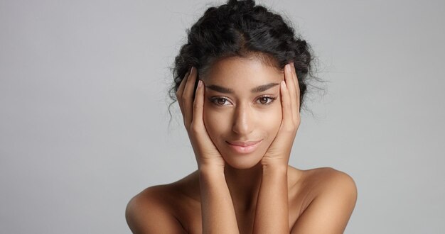
[[[355,179],[345,233],[443,233],[445,2],[260,3],[294,21],[329,81],[290,164]],[[195,170],[166,90],[211,5],[0,1],[0,233],[129,233],[134,194]]]

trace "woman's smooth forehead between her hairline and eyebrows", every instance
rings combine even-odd
[[[259,57],[227,57],[215,62],[204,77],[206,85],[250,88],[284,79],[283,72]]]

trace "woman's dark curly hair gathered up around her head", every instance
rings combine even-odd
[[[307,79],[313,77],[313,55],[306,41],[296,37],[282,16],[264,6],[255,6],[253,0],[229,0],[227,4],[207,9],[187,34],[188,41],[182,45],[173,67],[174,82],[169,92],[173,103],[190,67],[196,67],[201,76],[224,57],[257,56],[280,70],[294,62],[301,110]]]

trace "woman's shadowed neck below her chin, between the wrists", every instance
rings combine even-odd
[[[262,179],[261,164],[250,169],[235,169],[226,165],[224,174],[235,208],[240,211],[255,208]]]

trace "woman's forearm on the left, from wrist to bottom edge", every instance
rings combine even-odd
[[[223,168],[200,167],[203,233],[240,233]]]

